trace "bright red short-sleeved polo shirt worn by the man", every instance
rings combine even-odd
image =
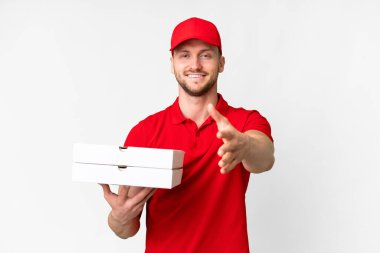
[[[270,139],[268,121],[257,111],[233,108],[219,94],[216,109],[239,131],[259,130]],[[158,189],[147,203],[147,253],[249,252],[245,193],[250,173],[238,164],[221,174],[222,140],[209,117],[199,128],[186,119],[178,98],[137,124],[125,146],[185,151],[182,182]],[[147,157],[149,159],[149,157]]]

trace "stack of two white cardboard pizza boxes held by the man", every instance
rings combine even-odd
[[[171,189],[181,183],[181,150],[74,144],[72,179]]]

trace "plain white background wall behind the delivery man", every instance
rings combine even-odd
[[[247,192],[251,250],[380,252],[379,13],[375,0],[0,0],[0,252],[144,251],[144,228],[108,229],[100,186],[71,182],[72,144],[121,145],[174,101],[170,35],[192,16],[220,30],[220,92],[272,124],[276,164]]]

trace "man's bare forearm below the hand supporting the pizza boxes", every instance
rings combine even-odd
[[[140,229],[140,216],[137,216],[130,220],[128,223],[121,223],[117,221],[113,216],[112,212],[108,215],[108,226],[111,230],[120,238],[127,239],[134,236]]]

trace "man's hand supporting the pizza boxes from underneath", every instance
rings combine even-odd
[[[156,189],[120,185],[118,194],[111,191],[108,184],[100,184],[103,188],[104,198],[111,206],[110,215],[120,223],[126,225],[139,216],[145,203]]]

